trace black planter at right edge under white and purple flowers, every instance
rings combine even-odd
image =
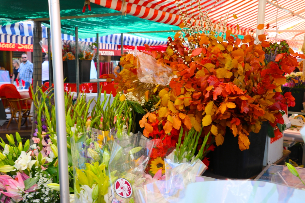
[[[301,110],[303,110],[303,102],[305,99],[305,89],[283,87],[283,94],[286,92],[291,92],[292,96],[296,99],[296,105],[294,107],[288,107],[288,111],[301,112]]]

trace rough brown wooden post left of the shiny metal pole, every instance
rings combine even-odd
[[[34,22],[34,44],[33,44],[33,91],[36,92],[36,86],[41,86],[41,64],[42,64],[42,51],[39,44],[41,40],[41,22]]]

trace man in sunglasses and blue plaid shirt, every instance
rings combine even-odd
[[[24,89],[29,89],[32,83],[32,77],[34,71],[33,64],[27,60],[27,54],[22,54],[21,58],[23,63],[20,64],[20,68],[18,69],[19,78],[25,81]]]

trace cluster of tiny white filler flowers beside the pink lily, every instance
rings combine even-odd
[[[35,184],[34,192],[23,192],[23,202],[37,202],[37,203],[53,203],[56,202],[56,197],[53,194],[53,190],[50,189],[47,184],[53,183],[50,174],[45,174],[43,171],[38,170],[34,178],[39,178]],[[57,191],[56,191],[57,192]]]

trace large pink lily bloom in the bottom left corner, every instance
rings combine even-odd
[[[23,200],[23,197],[20,196],[18,193],[20,189],[24,190],[24,188],[25,188],[22,176],[19,172],[17,172],[17,176],[16,176],[15,180],[5,179],[5,180],[3,180],[3,183],[5,184],[5,190],[7,192],[1,191],[2,194],[12,198],[13,201],[15,201],[15,202],[20,202],[21,200]],[[35,191],[35,186],[33,185],[26,191],[27,192]]]

